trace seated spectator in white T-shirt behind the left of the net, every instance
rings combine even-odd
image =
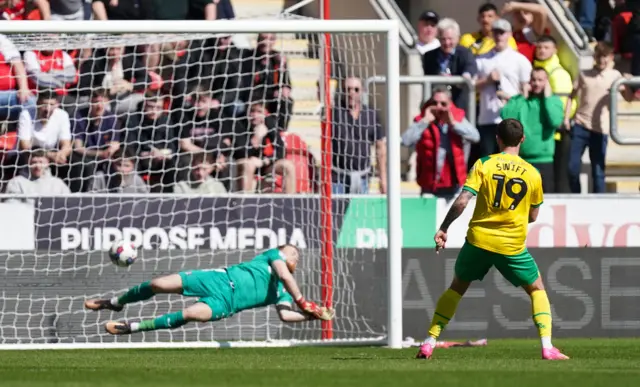
[[[35,115],[20,113],[18,141],[21,151],[44,149],[54,164],[66,164],[71,154],[71,123],[69,114],[60,109],[58,96],[51,90],[38,94]]]

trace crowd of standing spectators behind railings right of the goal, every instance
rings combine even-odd
[[[596,0],[580,3],[584,8]],[[466,86],[437,88],[404,133],[403,144],[417,154],[422,193],[450,197],[457,192],[468,168],[497,152],[496,126],[507,118],[524,123],[521,156],[538,168],[545,192],[582,192],[582,155],[587,148],[593,192],[605,192],[609,90],[616,80],[630,76],[625,68],[633,70],[633,63],[640,63],[640,53],[633,59],[623,48],[635,33],[633,20],[640,25],[638,4],[616,1],[608,32],[593,43],[593,69],[575,77],[561,63],[546,8],[537,1],[507,2],[502,9],[486,3],[478,9],[479,29],[462,36],[455,20],[441,19],[434,11],[421,14],[417,48],[424,74],[465,77],[477,93],[476,100],[469,101]],[[588,27],[590,22],[579,15]],[[594,37],[593,28],[587,32]],[[640,30],[637,33],[640,36]],[[632,65],[616,66],[616,59],[630,58]],[[637,98],[631,88],[623,86],[620,92],[628,101]],[[476,127],[460,117],[460,110],[468,112],[474,103]]]

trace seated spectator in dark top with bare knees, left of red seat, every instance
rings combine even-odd
[[[273,117],[268,116],[263,102],[251,105],[248,130],[238,134],[234,143],[238,160],[241,186],[244,192],[253,192],[256,175],[277,174],[284,179],[286,193],[296,192],[296,171],[293,163],[285,159],[285,144]]]

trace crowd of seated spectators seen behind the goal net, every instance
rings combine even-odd
[[[5,20],[234,18],[229,0],[0,0]],[[276,37],[20,52],[0,35],[7,193],[300,191]],[[14,146],[8,146],[15,140]],[[305,165],[307,165],[305,160]]]

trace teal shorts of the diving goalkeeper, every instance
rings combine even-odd
[[[199,297],[198,302],[212,310],[211,321],[233,315],[233,288],[225,270],[194,270],[180,272],[182,295]]]

